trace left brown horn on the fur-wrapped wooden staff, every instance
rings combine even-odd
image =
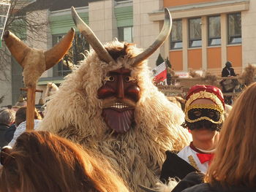
[[[31,48],[23,43],[18,37],[15,36],[15,34],[12,34],[10,31],[5,31],[4,42],[18,64],[24,68],[22,65],[23,59],[26,57],[26,54],[29,53]]]

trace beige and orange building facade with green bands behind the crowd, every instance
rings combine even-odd
[[[54,8],[40,10],[48,20],[48,27],[42,30],[46,40],[39,48],[50,49],[69,28],[75,27],[69,8],[71,4],[66,5],[55,4]],[[194,69],[220,75],[225,62],[231,61],[240,74],[247,64],[256,63],[256,1],[89,0],[80,1],[75,9],[102,43],[118,37],[146,49],[162,29],[164,7],[170,10],[173,28],[170,38],[148,58],[151,69],[156,66],[159,54],[164,59],[169,58],[176,72]],[[32,41],[30,45],[37,45],[37,42]],[[78,31],[73,45],[69,57],[42,74],[39,89],[45,90],[47,82],[61,83],[71,72],[69,62],[77,63],[82,59],[79,54],[90,48]],[[4,104],[15,104],[19,96],[19,91],[15,90],[12,88],[12,98]]]

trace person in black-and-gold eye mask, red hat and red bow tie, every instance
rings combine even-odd
[[[206,174],[219,141],[219,131],[225,118],[222,91],[212,85],[190,88],[185,103],[185,123],[193,141],[179,153],[167,151],[161,180],[169,177],[183,179],[189,172]]]

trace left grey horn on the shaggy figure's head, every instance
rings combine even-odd
[[[106,63],[115,62],[99,39],[95,36],[94,32],[91,31],[91,28],[87,26],[86,23],[79,17],[78,13],[75,11],[74,7],[71,7],[72,18],[74,20],[75,26],[79,29],[80,33],[86,37],[86,40],[89,42],[91,47],[94,48],[95,52],[102,61]]]

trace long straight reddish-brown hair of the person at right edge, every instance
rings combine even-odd
[[[206,181],[256,186],[256,82],[236,100],[220,132]]]

